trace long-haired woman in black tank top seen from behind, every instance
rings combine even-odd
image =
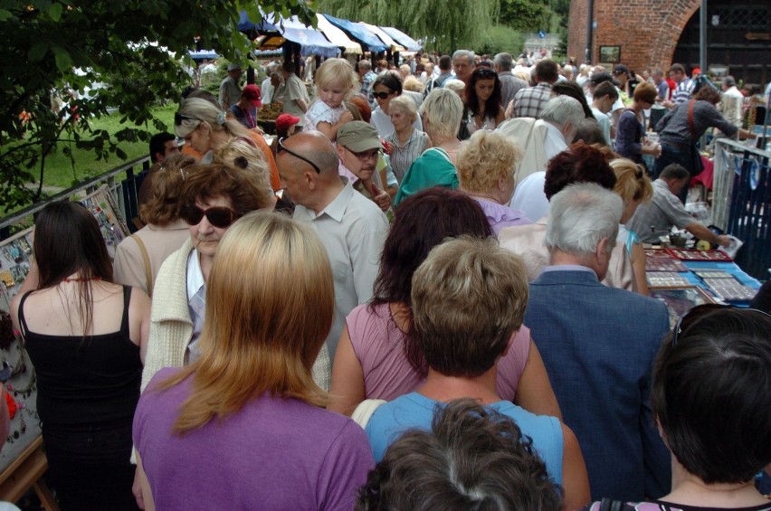
[[[34,257],[12,313],[37,374],[51,484],[63,510],[136,509],[131,423],[149,298],[112,283],[99,225],[80,203],[43,209]]]

